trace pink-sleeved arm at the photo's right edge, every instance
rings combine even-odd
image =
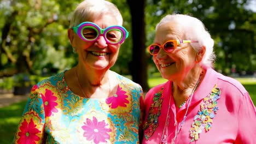
[[[238,111],[238,133],[235,143],[256,143],[256,110],[248,92],[240,101]]]

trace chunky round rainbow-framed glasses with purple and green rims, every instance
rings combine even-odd
[[[102,35],[108,44],[120,44],[129,35],[129,32],[122,26],[114,25],[102,29],[93,22],[82,22],[72,29],[81,39],[88,42],[96,41]]]

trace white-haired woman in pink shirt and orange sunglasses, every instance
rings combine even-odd
[[[146,94],[143,143],[256,143],[252,100],[213,70],[213,39],[200,20],[165,16],[148,51],[168,81]]]

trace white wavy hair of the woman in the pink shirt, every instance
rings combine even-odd
[[[196,40],[198,43],[190,43],[193,49],[199,52],[203,46],[206,47],[205,55],[202,58],[201,65],[204,67],[213,67],[215,54],[213,52],[214,41],[210,33],[206,30],[205,25],[195,17],[183,14],[166,15],[156,25],[155,30],[164,23],[177,22],[182,27],[181,35],[184,35],[183,40]]]

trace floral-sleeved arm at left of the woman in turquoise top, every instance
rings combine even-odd
[[[43,143],[45,115],[42,97],[38,91],[38,86],[34,85],[13,143]]]

